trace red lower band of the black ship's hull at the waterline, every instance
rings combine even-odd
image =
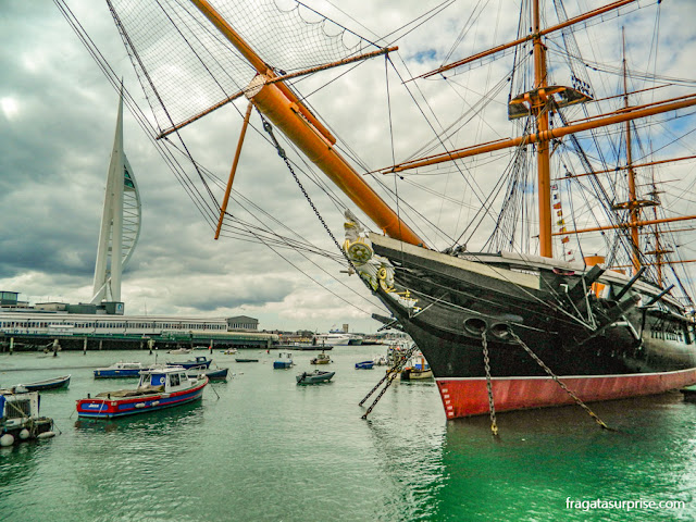
[[[696,383],[696,369],[667,373],[559,377],[583,401],[652,395]],[[494,377],[496,411],[574,403],[550,377]],[[488,413],[485,377],[439,378],[437,387],[448,419]]]

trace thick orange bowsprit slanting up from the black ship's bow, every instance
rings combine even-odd
[[[233,29],[207,0],[190,0],[194,5],[257,70],[246,89],[249,100],[279,128],[324,174],[326,174],[389,237],[425,246],[374,191],[358,172],[334,149],[335,139],[295,94],[282,82],[266,84],[277,75]]]

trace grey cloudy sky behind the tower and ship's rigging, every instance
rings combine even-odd
[[[440,2],[306,3],[365,38],[377,40]],[[396,42],[399,55],[394,58],[397,70],[406,78],[439,65],[450,50],[452,59],[461,58],[512,39],[519,18],[511,12],[510,3],[490,0],[483,2],[486,9],[478,12],[474,8],[481,7],[481,2],[460,1],[412,32],[402,29],[400,34],[405,36]],[[574,15],[580,9],[577,2],[567,3],[569,15]],[[580,2],[581,7],[589,8],[602,3]],[[70,0],[67,5],[150,117],[105,3]],[[670,0],[662,2],[660,9],[658,57],[660,67],[664,65],[660,74],[688,77],[693,69],[688,46],[693,49],[694,36],[686,24],[678,21],[694,20],[694,4],[689,0]],[[641,71],[651,71],[654,66],[649,52],[654,49],[656,13],[656,8],[648,5],[629,18],[630,26],[641,35],[629,37],[629,57]],[[554,18],[549,21],[554,23]],[[455,45],[467,24],[469,30]],[[30,302],[88,301],[117,92],[53,2],[2,1],[0,27],[0,289],[18,291],[22,299]],[[618,27],[613,20],[595,26],[598,36],[588,44],[595,60],[607,60],[614,67],[619,64],[613,53],[618,48]],[[607,28],[611,32],[602,30]],[[393,154],[397,160],[414,154],[433,139],[432,126],[442,128],[459,121],[480,95],[505,78],[510,63],[504,58],[471,71],[470,75],[453,77],[447,85],[411,83],[407,90],[394,70],[385,73],[384,59],[376,59],[345,76],[340,76],[345,70],[321,73],[300,83],[298,88],[308,95],[337,78],[312,94],[309,101],[366,169],[372,170],[390,164]],[[568,83],[568,78],[561,79]],[[421,94],[428,102],[417,105],[413,98],[420,100]],[[504,87],[500,99],[490,104],[496,120],[472,119],[455,133],[452,144],[465,146],[510,136],[505,121],[507,94]],[[194,157],[221,178],[227,176],[245,107],[246,101],[238,100],[234,107],[226,107],[186,129]],[[136,119],[126,112],[124,120],[125,151],[142,200],[140,240],[123,276],[126,313],[208,316],[241,313],[258,318],[262,328],[327,331],[344,323],[356,332],[374,332],[378,327],[370,313],[384,313],[384,309],[355,276],[340,273],[339,263],[291,250],[276,252],[239,238],[213,240],[210,224]],[[336,253],[287,167],[263,138],[257,115],[251,124],[235,189],[319,248]],[[668,130],[675,137],[685,134],[679,126]],[[687,136],[664,152],[693,154],[693,138]],[[288,152],[302,166],[302,160],[291,149]],[[447,236],[459,236],[475,215],[478,197],[499,175],[500,166],[488,165],[486,159],[480,161],[475,174],[476,164],[469,162],[459,170],[440,167],[435,175],[403,181],[383,176],[383,182],[445,232],[439,236],[432,229],[427,232],[436,248],[445,248]],[[470,173],[475,182],[464,179]],[[683,164],[679,172],[670,172],[667,177],[675,181],[664,198],[683,195],[693,187],[689,174],[694,174],[693,162]],[[321,187],[303,179],[323,219],[338,240],[343,240],[339,206]],[[423,191],[422,186],[430,191]],[[212,188],[216,190],[215,197],[221,198],[222,190]],[[683,199],[680,201],[684,203]],[[234,203],[229,210],[251,221]],[[282,232],[279,225],[274,226]]]

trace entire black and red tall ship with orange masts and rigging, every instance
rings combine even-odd
[[[417,343],[436,378],[448,419],[486,414],[494,408],[636,397],[696,382],[687,264],[693,260],[678,239],[679,233],[693,231],[691,220],[696,216],[682,204],[689,202],[688,195],[669,208],[661,204],[672,195],[657,172],[664,164],[688,165],[695,158],[659,152],[669,151],[669,142],[691,132],[696,82],[658,74],[662,64],[657,51],[642,54],[639,70],[633,69],[626,41],[649,45],[645,41],[649,39],[645,33],[622,35],[619,22],[625,16],[629,27],[642,32],[648,27],[657,42],[670,33],[670,27],[659,30],[661,16],[670,20],[666,11],[679,10],[679,2],[521,1],[517,24],[499,24],[518,27],[507,42],[423,74],[403,67],[396,73],[413,94],[420,92],[419,85],[433,83],[455,90],[468,74],[480,79],[482,67],[497,67],[487,70],[485,82],[467,84],[468,95],[477,97],[468,102],[471,111],[444,123],[437,120],[439,126],[435,119],[428,120],[431,141],[418,144],[407,161],[395,160],[377,170],[357,162],[346,152],[351,149],[340,147],[300,94],[300,82],[328,69],[390,57],[396,48],[389,47],[388,38],[377,40],[387,45],[377,45],[350,33],[357,41],[353,47],[341,50],[332,40],[336,45],[332,49],[338,49],[333,54],[326,51],[314,61],[302,61],[293,45],[307,50],[301,40],[319,38],[314,29],[335,38],[326,30],[327,18],[300,2],[244,3],[260,8],[248,12],[224,1],[154,7],[154,2],[108,0],[158,122],[152,126],[158,144],[164,147],[163,141],[181,138],[185,126],[219,107],[244,98],[248,102],[224,196],[220,190],[210,201],[219,211],[213,220],[216,237],[234,220],[227,202],[256,111],[270,147],[309,203],[298,163],[286,153],[289,147],[351,201],[345,238],[336,239],[335,223],[322,223],[340,249],[346,271],[359,274],[391,315],[375,319],[402,328]],[[577,8],[588,3],[593,5],[588,11]],[[438,4],[418,23],[428,17],[437,23],[433,13],[446,8],[464,10],[451,4]],[[309,21],[302,10],[315,17]],[[458,42],[476,24],[485,32],[488,26],[482,20],[492,12],[496,11],[481,3],[473,12],[462,12],[467,30]],[[276,15],[295,16],[296,27],[303,30],[286,41],[275,25]],[[592,34],[581,37],[581,32],[618,36],[610,40],[613,48],[598,50],[605,40]],[[345,36],[346,32],[338,39],[345,41]],[[607,54],[611,59],[600,61]],[[178,69],[163,66],[165,58]],[[176,69],[176,77],[167,76],[167,69],[170,73]],[[490,77],[495,74],[497,83]],[[186,96],[191,86],[198,89],[195,97]],[[201,104],[196,105],[194,98]],[[502,102],[493,103],[500,98]],[[419,105],[423,114],[427,108]],[[484,116],[488,110],[507,115],[510,137],[500,137],[506,127]],[[681,126],[674,123],[682,119]],[[482,145],[457,144],[481,126],[490,127],[494,137]],[[657,137],[641,138],[651,129],[657,129]],[[485,169],[494,160],[497,170]],[[493,179],[476,182],[470,176],[477,165]],[[686,167],[683,172],[688,174]],[[436,227],[437,220],[421,219],[421,211],[433,206],[409,206],[398,189],[388,192],[395,203],[390,206],[378,191],[385,190],[382,179],[395,186],[415,179],[413,184],[428,189],[428,182],[421,179],[452,173],[467,181],[473,201],[453,235],[425,232],[424,223]],[[368,178],[375,181],[375,187]],[[440,191],[449,197],[447,187]],[[321,220],[316,207],[311,208]]]

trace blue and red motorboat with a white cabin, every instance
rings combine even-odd
[[[103,391],[77,400],[77,415],[111,419],[185,405],[200,399],[207,384],[208,377],[186,375],[182,366],[154,365],[140,372],[135,389]]]

